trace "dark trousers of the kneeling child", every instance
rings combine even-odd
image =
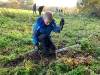
[[[50,50],[55,52],[56,47],[46,34],[39,35],[38,39],[41,43],[44,53],[50,53]]]

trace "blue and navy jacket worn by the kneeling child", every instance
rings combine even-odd
[[[35,45],[38,44],[38,36],[41,35],[41,34],[46,34],[48,36],[48,38],[51,38],[50,34],[51,34],[52,30],[54,32],[59,32],[60,31],[60,25],[56,26],[56,23],[53,19],[52,22],[50,23],[50,25],[46,26],[44,21],[43,21],[43,18],[39,17],[36,20],[35,25],[33,26],[33,35],[32,35],[33,43]]]

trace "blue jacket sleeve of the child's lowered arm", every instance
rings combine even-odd
[[[38,36],[39,36],[39,26],[38,24],[36,23],[34,26],[33,26],[33,34],[32,34],[32,38],[33,38],[33,43],[34,45],[38,45]]]

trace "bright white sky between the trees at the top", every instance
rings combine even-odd
[[[34,2],[37,4],[37,6],[62,6],[71,8],[76,6],[77,0],[34,0]]]

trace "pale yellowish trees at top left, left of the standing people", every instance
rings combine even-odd
[[[21,8],[21,9],[31,9],[34,4],[33,0],[8,0],[3,2],[0,0],[0,7],[8,8]]]

